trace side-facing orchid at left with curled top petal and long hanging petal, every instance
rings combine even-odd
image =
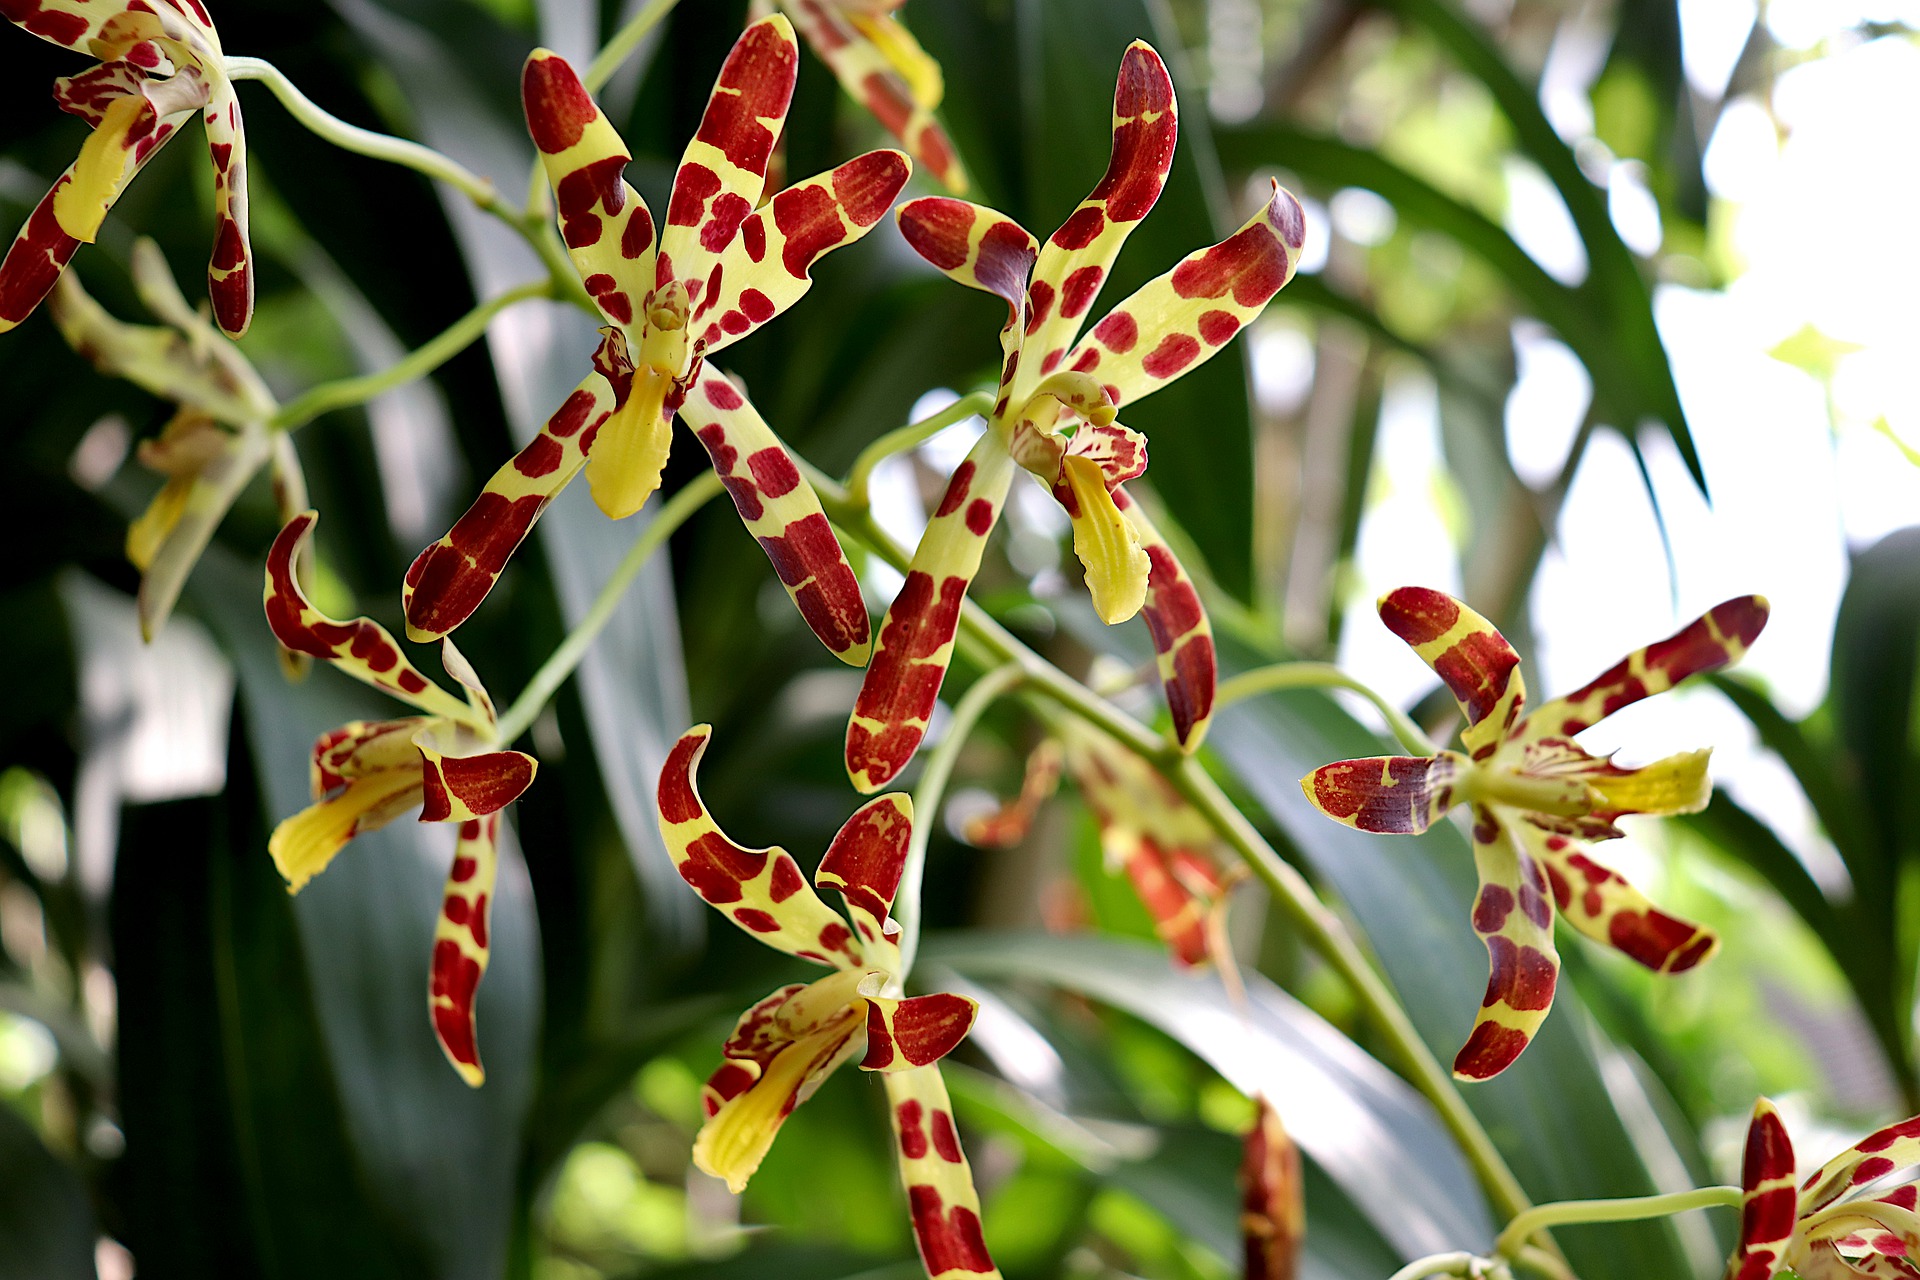
[[[282,645],[420,708],[424,716],[355,720],[313,743],[313,798],[267,841],[288,892],[326,869],[348,841],[376,831],[415,804],[420,821],[461,823],[453,867],[434,927],[428,1015],[461,1079],[486,1079],[474,1038],[474,996],[488,965],[488,919],[499,869],[499,810],[520,798],[538,768],[532,756],[501,750],[493,702],[472,666],[440,643],[457,699],[420,676],[371,618],[334,622],[307,599],[294,560],[319,516],[296,516],[267,553],[267,626]]]

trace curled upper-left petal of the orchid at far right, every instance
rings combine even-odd
[[[1428,587],[1400,587],[1380,597],[1380,622],[1411,645],[1446,683],[1467,718],[1459,741],[1475,760],[1500,747],[1526,702],[1521,654],[1492,622],[1453,597]]]

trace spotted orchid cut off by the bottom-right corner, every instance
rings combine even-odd
[[[1889,1125],[1793,1188],[1793,1142],[1761,1098],[1747,1126],[1740,1242],[1726,1280],[1920,1280],[1920,1115]],[[1895,1186],[1884,1178],[1905,1176]],[[1876,1186],[1880,1184],[1880,1186]]]

